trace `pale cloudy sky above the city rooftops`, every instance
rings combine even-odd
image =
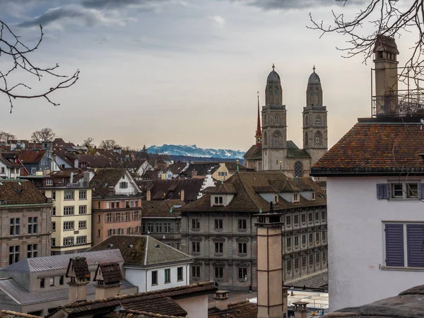
[[[352,1],[351,1],[352,2]],[[365,0],[1,0],[0,19],[21,40],[44,38],[31,56],[42,67],[81,71],[78,82],[45,100],[0,95],[0,130],[29,139],[49,127],[65,141],[114,139],[122,146],[196,144],[247,151],[254,143],[257,91],[276,65],[287,109],[288,139],[302,146],[302,107],[316,67],[328,110],[329,146],[371,113],[370,69],[345,59],[346,37],[319,37],[309,13],[353,16]],[[366,28],[365,31],[366,32]],[[411,36],[396,39],[399,61]],[[8,66],[0,56],[0,70]],[[51,87],[19,73],[32,92]],[[24,88],[22,88],[24,89]]]

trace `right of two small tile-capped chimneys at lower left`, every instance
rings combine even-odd
[[[95,285],[95,299],[104,299],[119,296],[121,293],[122,272],[119,264],[98,264],[93,281]]]

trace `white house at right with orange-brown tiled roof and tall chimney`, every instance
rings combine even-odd
[[[379,73],[396,67],[394,40],[380,37],[375,54],[374,117],[358,119],[311,173],[327,178],[331,311],[388,298],[423,280],[423,115],[399,107],[405,100],[397,91],[379,93],[397,78]]]

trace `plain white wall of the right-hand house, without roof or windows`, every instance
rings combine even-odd
[[[419,189],[423,179],[327,178],[331,311],[388,298],[423,281],[424,266],[407,267],[406,240],[406,224],[424,224],[423,201],[377,199],[377,184],[412,182]],[[386,223],[405,225],[404,266],[386,266]]]

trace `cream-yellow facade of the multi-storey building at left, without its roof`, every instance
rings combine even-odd
[[[67,252],[85,251],[92,246],[91,236],[91,194],[90,188],[50,188],[45,189],[45,196],[52,198],[52,192],[55,192],[54,208],[56,208],[56,216],[52,216],[52,222],[56,226],[56,230],[52,232],[54,239],[54,247],[52,254],[65,254]],[[65,192],[73,192],[73,200],[65,200]],[[86,199],[79,199],[80,192],[86,192]],[[83,197],[83,196],[81,196]],[[64,209],[73,206],[73,215],[66,216]],[[86,206],[86,214],[80,214],[80,206]],[[73,230],[64,230],[64,222],[73,221]],[[85,222],[86,228],[79,228],[79,222]],[[77,244],[77,237],[86,237],[85,244]],[[73,245],[65,246],[64,238],[73,237]],[[78,239],[81,240],[81,239]]]

